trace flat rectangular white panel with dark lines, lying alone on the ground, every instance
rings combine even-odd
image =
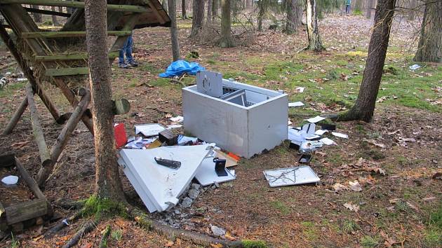
[[[264,170],[264,177],[271,187],[312,184],[320,180],[312,168],[307,165]]]

